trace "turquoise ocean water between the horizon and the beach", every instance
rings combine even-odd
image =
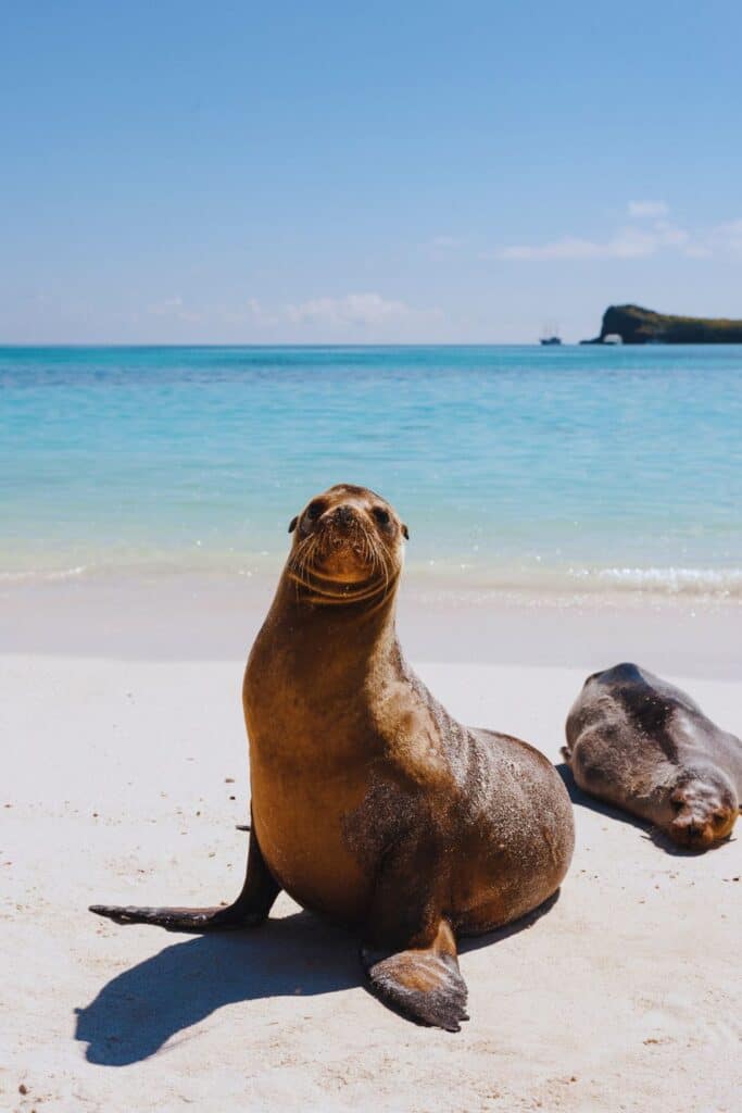
[[[742,347],[0,348],[0,578],[274,572],[339,481],[412,575],[742,597]]]

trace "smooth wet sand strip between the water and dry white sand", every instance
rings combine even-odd
[[[277,577],[101,575],[0,584],[0,654],[245,661]],[[739,600],[641,592],[482,591],[407,575],[398,632],[413,660],[742,678]]]

